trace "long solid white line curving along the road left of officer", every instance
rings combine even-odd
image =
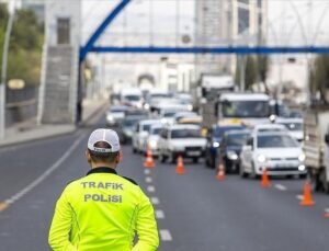
[[[71,153],[76,150],[76,148],[79,146],[81,140],[84,138],[84,135],[81,135],[73,145],[65,151],[65,153],[49,168],[47,169],[42,175],[39,175],[36,180],[34,180],[32,183],[30,183],[27,186],[25,186],[23,190],[11,196],[10,198],[5,199],[4,202],[7,204],[12,204],[20,199],[22,196],[27,194],[31,190],[33,190],[35,186],[37,186],[39,183],[42,183],[45,179],[47,179],[56,169],[63,164],[64,161],[66,161]]]

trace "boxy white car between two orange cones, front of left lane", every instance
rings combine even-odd
[[[206,139],[201,136],[196,125],[170,125],[160,133],[159,159],[174,162],[179,156],[197,162],[204,156]]]

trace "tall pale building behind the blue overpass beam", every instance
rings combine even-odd
[[[196,1],[197,46],[264,44],[268,0]],[[235,75],[236,55],[196,55],[196,77],[201,73]]]

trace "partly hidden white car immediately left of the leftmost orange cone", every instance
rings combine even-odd
[[[151,125],[160,124],[158,119],[140,121],[135,128],[132,147],[133,152],[144,152],[144,142],[147,140]]]

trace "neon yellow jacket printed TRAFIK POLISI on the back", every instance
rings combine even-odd
[[[64,190],[48,241],[54,251],[154,251],[159,235],[141,189],[114,169],[95,168]]]

